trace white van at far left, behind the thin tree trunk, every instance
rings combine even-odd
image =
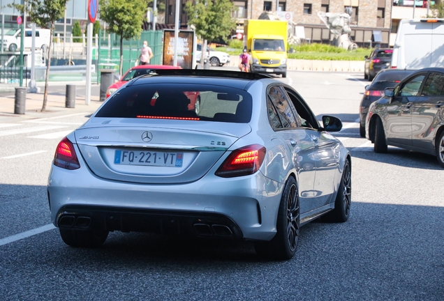
[[[20,36],[21,30],[9,29],[3,35],[3,49],[10,52],[16,52],[20,50]],[[36,29],[36,48],[42,49],[50,45],[51,31],[50,29]],[[32,46],[32,30],[25,29],[24,49],[31,49]]]

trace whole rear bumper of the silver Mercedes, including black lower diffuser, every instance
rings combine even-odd
[[[141,185],[98,178],[85,168],[54,166],[47,187],[54,226],[82,229],[98,223],[109,231],[251,240],[271,240],[276,234],[282,189],[260,172],[238,178],[207,175],[180,185]]]

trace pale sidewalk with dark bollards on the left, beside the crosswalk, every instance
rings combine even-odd
[[[42,86],[43,84],[43,86]],[[63,93],[61,89],[54,89],[51,86],[64,86],[66,84],[74,84],[76,86],[76,97],[75,97],[75,108],[66,107],[66,91]],[[25,102],[25,113],[24,114],[14,114],[15,111],[15,88],[8,89],[7,91],[0,87],[2,95],[0,95],[0,118],[3,117],[20,117],[26,119],[34,118],[49,118],[52,116],[58,116],[61,114],[75,114],[82,112],[93,113],[102,105],[103,102],[100,101],[100,91],[98,85],[91,86],[91,100],[89,105],[85,104],[86,95],[86,84],[85,82],[50,82],[48,87],[47,104],[46,111],[42,112],[43,105],[43,93],[45,92],[45,83],[38,83],[37,86],[40,88],[38,93],[28,93],[26,94]]]

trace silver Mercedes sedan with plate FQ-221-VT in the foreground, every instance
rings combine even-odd
[[[199,114],[186,109],[190,90]],[[57,146],[51,221],[73,247],[141,231],[253,240],[260,256],[292,258],[300,226],[350,215],[350,153],[329,133],[342,123],[322,120],[267,75],[137,77]]]

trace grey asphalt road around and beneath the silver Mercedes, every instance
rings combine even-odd
[[[302,227],[295,257],[280,262],[262,261],[251,242],[146,233],[110,233],[98,249],[68,247],[49,225],[45,185],[59,140],[88,114],[0,118],[0,299],[444,300],[436,158],[373,153],[357,124],[362,74],[288,72],[279,80],[319,118],[344,123],[336,137],[353,156],[348,222]]]

